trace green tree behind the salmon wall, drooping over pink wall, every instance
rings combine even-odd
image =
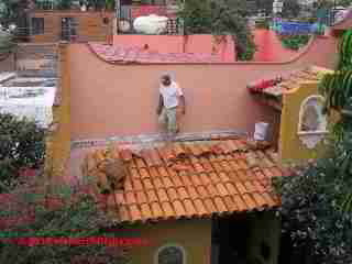
[[[186,34],[232,35],[239,59],[250,61],[255,53],[254,37],[243,10],[231,7],[221,0],[189,0],[177,15],[184,21]]]

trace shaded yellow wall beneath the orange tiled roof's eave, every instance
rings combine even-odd
[[[179,245],[185,249],[186,262],[210,264],[211,219],[174,220],[125,227],[114,237],[132,235],[151,242],[150,245],[133,246],[129,253],[130,264],[157,264],[155,254],[161,246]]]

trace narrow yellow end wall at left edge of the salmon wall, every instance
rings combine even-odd
[[[56,129],[46,139],[46,170],[53,179],[62,179],[70,154],[70,84],[66,44],[58,45],[59,106],[53,107],[53,122]]]

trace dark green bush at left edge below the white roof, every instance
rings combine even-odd
[[[0,182],[15,178],[21,168],[37,168],[45,156],[44,129],[35,122],[0,114]],[[0,187],[1,191],[1,187]]]

